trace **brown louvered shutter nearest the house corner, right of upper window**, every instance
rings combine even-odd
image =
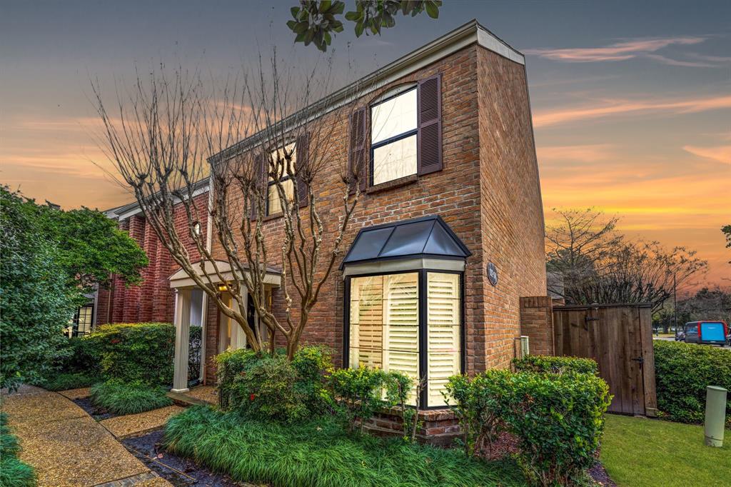
[[[417,174],[442,170],[442,74],[419,81]]]

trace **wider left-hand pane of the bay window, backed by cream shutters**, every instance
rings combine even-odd
[[[350,282],[349,366],[419,377],[418,274],[356,277]],[[415,388],[409,397],[416,404]]]

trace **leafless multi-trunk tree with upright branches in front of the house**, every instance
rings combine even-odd
[[[329,112],[325,102],[315,102],[328,94],[330,67],[326,59],[305,73],[283,69],[275,52],[220,86],[197,72],[178,68],[169,75],[161,67],[144,77],[138,73],[134,88],[118,91],[111,105],[99,83],[92,85],[104,127],[102,147],[175,263],[240,325],[252,349],[268,345],[273,352],[275,337],[281,337],[290,358],[343,252],[360,199],[363,171],[355,168],[363,161],[351,160],[347,167],[336,162],[342,159],[337,145],[342,127],[355,110],[355,102],[347,100],[357,97],[344,95],[344,106]],[[352,94],[361,88],[353,87]],[[353,154],[365,157],[365,151]],[[323,203],[317,196],[333,172],[340,183],[335,208],[332,199]],[[196,191],[205,178],[211,195],[202,204]],[[199,225],[209,206],[211,249]],[[273,211],[281,213],[282,228],[275,243],[265,238]],[[227,279],[221,260],[234,279]],[[285,311],[279,316],[268,306],[272,267],[281,270]],[[247,292],[268,329],[268,344],[249,326]]]

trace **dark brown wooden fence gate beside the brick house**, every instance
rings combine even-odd
[[[613,394],[611,412],[655,416],[655,358],[649,304],[556,306],[556,355],[593,358]]]

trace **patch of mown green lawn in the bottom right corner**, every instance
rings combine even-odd
[[[711,448],[702,426],[607,415],[602,464],[619,486],[730,486],[731,431]]]

